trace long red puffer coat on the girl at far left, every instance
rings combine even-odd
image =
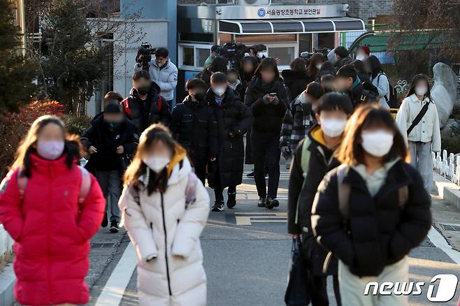
[[[31,155],[31,177],[21,201],[18,170],[0,189],[0,222],[15,240],[15,298],[22,305],[85,304],[89,291],[89,239],[101,226],[105,199],[91,177],[80,205],[82,175],[56,161]]]

